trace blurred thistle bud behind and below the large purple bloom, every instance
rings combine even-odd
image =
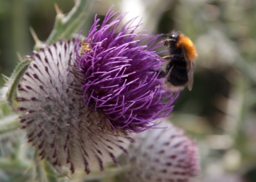
[[[198,148],[167,119],[158,129],[138,133],[128,149],[130,156],[122,156],[121,164],[130,171],[119,176],[123,182],[191,182],[198,176]]]

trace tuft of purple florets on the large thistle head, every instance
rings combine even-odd
[[[85,40],[92,51],[80,56],[80,42],[76,48],[78,68],[84,75],[83,98],[114,129],[138,133],[156,125],[155,119],[168,116],[175,97],[162,89],[155,71],[161,69],[162,59],[154,52],[156,47],[149,45],[159,36],[136,33],[140,25],[129,26],[133,20],[120,28],[125,14],[111,20],[115,14],[106,14],[100,28],[95,17]]]

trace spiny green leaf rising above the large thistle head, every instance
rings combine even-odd
[[[51,31],[49,38],[46,40],[46,44],[50,45],[57,42],[58,39],[69,39],[74,32],[78,31],[88,14],[90,13],[93,1],[89,0],[76,0],[75,5],[70,13],[67,15],[57,14],[54,29]]]

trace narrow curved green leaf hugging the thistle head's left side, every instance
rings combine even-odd
[[[30,61],[30,59],[26,59],[25,61],[19,63],[14,69],[14,72],[11,74],[9,80],[6,82],[6,86],[4,88],[7,89],[5,99],[12,107],[14,107],[13,98],[14,94],[16,93],[18,83],[21,80],[23,74],[26,72],[26,69],[29,67]]]

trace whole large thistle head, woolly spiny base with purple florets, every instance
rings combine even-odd
[[[35,52],[18,85],[18,113],[39,156],[71,172],[104,169],[132,141],[130,133],[167,116],[178,94],[162,89],[156,37],[138,32],[124,14],[95,18],[81,51],[78,40]],[[133,20],[131,20],[132,22]],[[142,45],[142,42],[147,41]]]

